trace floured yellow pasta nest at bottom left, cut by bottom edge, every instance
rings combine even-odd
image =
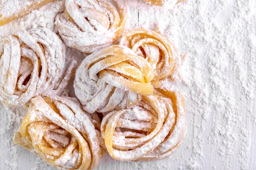
[[[97,115],[86,113],[70,97],[36,96],[14,142],[58,170],[92,170],[106,148]]]

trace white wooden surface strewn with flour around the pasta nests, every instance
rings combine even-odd
[[[255,170],[256,169],[256,1],[186,0],[177,6],[155,7],[126,0],[126,30],[154,29],[166,33],[178,53],[188,52],[181,79],[168,83],[183,93],[187,131],[180,148],[161,161],[120,162],[106,154],[97,170]],[[0,37],[19,29],[53,29],[64,1],[56,0],[7,25]],[[82,60],[67,49],[67,60]],[[55,170],[24,148],[13,135],[25,108],[0,105],[0,169]]]

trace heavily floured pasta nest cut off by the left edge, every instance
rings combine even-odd
[[[22,106],[36,95],[59,94],[77,62],[72,62],[65,77],[64,64],[65,45],[47,28],[3,37],[0,40],[0,101],[8,106]]]

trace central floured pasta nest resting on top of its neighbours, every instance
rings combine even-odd
[[[149,63],[125,46],[112,45],[88,55],[76,70],[74,91],[89,113],[130,108],[154,91]]]

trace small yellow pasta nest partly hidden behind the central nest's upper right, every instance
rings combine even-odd
[[[159,86],[161,79],[174,75],[182,63],[173,44],[157,29],[133,29],[121,38],[120,44],[150,63],[155,74],[152,80],[154,87]]]

